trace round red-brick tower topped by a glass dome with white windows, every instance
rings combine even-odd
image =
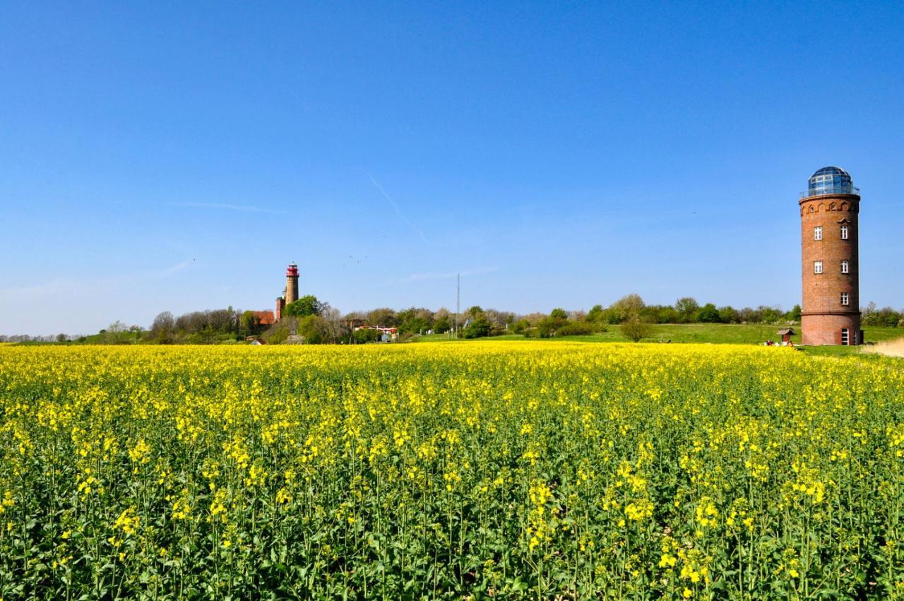
[[[801,193],[804,344],[861,344],[857,215],[860,189],[839,167],[824,167]]]

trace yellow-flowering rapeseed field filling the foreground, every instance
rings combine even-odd
[[[0,597],[904,596],[902,365],[5,346]]]

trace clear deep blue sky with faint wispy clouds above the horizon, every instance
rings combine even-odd
[[[898,3],[4,3],[0,333],[271,308],[800,300],[862,188],[904,306]],[[899,182],[896,184],[895,182]]]

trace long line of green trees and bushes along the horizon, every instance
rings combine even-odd
[[[150,327],[114,322],[91,336],[0,335],[0,343],[79,342],[79,343],[160,343],[215,344],[239,343],[257,337],[267,343],[371,343],[381,332],[361,326],[396,328],[399,340],[428,333],[455,334],[462,338],[482,338],[502,334],[527,337],[587,335],[605,332],[619,325],[626,337],[648,337],[653,324],[797,324],[801,308],[795,305],[784,312],[777,306],[736,309],[730,305],[701,305],[691,296],[679,298],[673,305],[647,305],[636,294],[622,296],[608,306],[595,305],[589,311],[553,309],[549,314],[516,314],[511,311],[471,306],[456,315],[446,307],[437,311],[425,307],[392,309],[378,307],[370,311],[342,314],[316,296],[302,296],[286,306],[281,321],[273,324],[267,312],[225,309],[191,311],[173,315],[164,311]],[[862,309],[862,324],[904,328],[904,311],[878,308],[870,303]]]

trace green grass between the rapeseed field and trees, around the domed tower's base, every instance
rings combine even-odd
[[[777,332],[782,329],[782,326],[762,324],[655,324],[652,328],[653,334],[649,338],[645,338],[644,342],[762,344],[767,340],[780,340]],[[800,344],[800,326],[793,326],[793,329],[795,335],[791,337],[791,340],[795,344]],[[880,342],[904,336],[904,328],[866,327],[863,328],[863,333],[867,341]],[[420,336],[415,340],[421,342],[457,342],[451,341],[447,334]],[[518,334],[506,334],[489,340],[525,340],[525,338]],[[609,325],[606,332],[595,333],[589,336],[562,336],[551,340],[570,340],[587,343],[624,343],[628,341],[622,335],[621,328],[618,325]],[[857,351],[857,347],[824,348],[837,349],[833,353],[842,354]],[[829,351],[824,352],[824,354],[829,353]]]

